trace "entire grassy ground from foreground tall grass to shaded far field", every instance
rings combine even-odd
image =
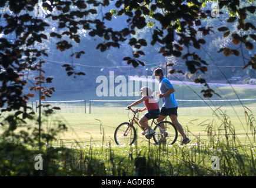
[[[177,89],[181,87],[177,86]],[[255,89],[238,90],[240,99],[256,98]],[[227,99],[237,99],[234,94],[231,95],[231,89],[225,88],[225,93],[230,95]],[[92,95],[93,93],[84,100],[97,99],[91,98]],[[75,98],[74,95],[62,97],[64,96],[60,96],[58,100],[83,100]],[[183,99],[198,100],[191,92],[184,93]],[[212,99],[216,100],[216,98]],[[61,111],[56,110],[52,115],[42,116],[41,134],[44,140],[42,142],[45,143],[45,138],[55,137],[56,140],[49,142],[48,145],[53,147],[44,146],[38,151],[38,137],[35,137],[38,131],[29,129],[28,134],[24,132],[26,127],[38,127],[38,112],[36,112],[34,119],[26,119],[26,125],[21,122],[23,126],[15,130],[16,135],[21,138],[16,142],[17,145],[13,145],[13,142],[5,142],[14,139],[15,135],[5,135],[7,139],[1,140],[3,142],[0,145],[0,174],[4,176],[21,176],[21,174],[22,176],[24,174],[133,176],[137,173],[134,166],[137,157],[144,157],[147,160],[147,167],[154,169],[152,176],[255,176],[256,105],[254,101],[242,101],[246,107],[240,102],[214,103],[214,106],[210,101],[200,103],[179,101],[178,119],[191,142],[181,146],[179,145],[181,136],[179,136],[177,143],[167,147],[153,145],[154,140],[145,139],[140,134],[140,129],[137,129],[138,137],[134,145],[117,146],[114,141],[115,128],[131,118],[131,113],[125,110],[124,104],[108,103],[104,106],[94,103],[91,106],[91,113],[88,113],[87,103],[87,113],[85,113],[83,102],[80,105],[59,103]],[[5,114],[2,119],[8,115],[9,113]],[[141,115],[142,113],[139,117]],[[58,126],[63,123],[67,125],[67,131],[59,131]],[[0,126],[0,135],[7,129],[7,123],[6,126]],[[9,133],[13,134],[12,131]],[[28,138],[32,138],[32,141],[29,142]],[[22,143],[26,143],[25,147],[21,147]],[[22,148],[24,151],[20,151]],[[40,171],[34,168],[33,156],[38,155],[38,152],[43,153],[45,165],[44,170]],[[219,157],[220,170],[212,169],[212,156]]]

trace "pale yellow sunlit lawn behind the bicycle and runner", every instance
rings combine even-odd
[[[117,108],[119,109],[119,108]],[[44,117],[42,121],[42,129],[46,131],[56,128],[56,120],[64,120],[68,130],[58,135],[58,140],[52,145],[75,145],[79,143],[81,146],[87,145],[101,145],[103,143],[114,142],[115,128],[122,122],[128,122],[131,118],[131,112],[128,113],[115,113],[118,112],[116,108],[108,108],[112,113],[58,113],[53,116]],[[223,111],[221,111],[221,110]],[[200,140],[209,140],[207,130],[211,127],[212,134],[225,137],[222,132],[224,126],[230,126],[235,130],[235,136],[239,137],[241,142],[249,142],[254,140],[253,136],[247,136],[251,132],[251,127],[248,124],[248,116],[244,115],[244,108],[234,107],[220,108],[213,112],[207,107],[194,107],[194,108],[179,108],[179,122],[184,127],[185,132],[191,139],[191,143]],[[234,112],[235,110],[235,112]],[[256,113],[256,108],[251,107],[252,113]],[[250,115],[250,112],[248,110]],[[139,115],[139,117],[142,113]],[[169,117],[167,118],[169,120]],[[37,126],[37,125],[36,125]],[[145,144],[148,142],[144,136],[140,134],[141,129],[137,125],[137,143]],[[214,130],[215,129],[215,130]],[[215,132],[215,133],[214,133]],[[232,134],[232,133],[229,133]],[[178,137],[177,144],[181,141],[181,136]],[[154,140],[151,140],[154,143]]]

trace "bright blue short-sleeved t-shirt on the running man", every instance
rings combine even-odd
[[[163,77],[161,80],[159,80],[159,90],[160,94],[167,92],[169,89],[174,88],[174,86],[171,85],[171,82],[165,77]],[[164,96],[162,98],[162,107],[165,108],[175,108],[178,107],[177,100],[175,99],[174,93],[171,93],[171,95]]]

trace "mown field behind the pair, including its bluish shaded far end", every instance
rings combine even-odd
[[[202,89],[199,86],[181,86],[174,85],[176,92],[175,95],[178,100],[198,100],[200,99],[198,94]],[[197,91],[196,93],[192,90]],[[214,88],[213,88],[214,89]],[[235,92],[240,99],[255,99],[256,92],[255,89],[248,88],[234,88]],[[222,98],[218,98],[216,95],[211,98],[211,100],[216,99],[237,99],[237,95],[234,94],[234,90],[231,88],[215,88],[216,92],[222,94]],[[58,136],[56,143],[53,145],[59,145],[60,143],[64,145],[74,145],[74,143],[80,143],[81,145],[100,145],[102,142],[111,142],[112,145],[115,145],[114,142],[114,131],[115,128],[122,122],[128,122],[131,118],[131,113],[128,116],[128,110],[125,110],[128,103],[92,103],[91,113],[89,113],[89,100],[90,99],[101,99],[106,100],[105,98],[95,98],[95,91],[90,90],[86,95],[86,106],[84,101],[74,104],[74,103],[56,103],[51,104],[53,106],[60,106],[61,112],[56,110],[54,116],[45,117],[47,120],[43,121],[42,129],[48,130],[54,128],[55,120],[64,120],[65,124],[68,127],[68,131],[61,133]],[[79,98],[82,93],[66,93],[65,95],[54,96],[51,100],[82,100]],[[85,95],[83,95],[85,96]],[[137,98],[129,98],[138,99]],[[127,98],[118,98],[118,100],[124,100]],[[111,98],[112,100],[112,98]],[[117,100],[117,98],[116,98]],[[237,137],[240,137],[242,142],[249,142],[249,140],[254,140],[253,137],[250,138],[250,132],[255,131],[251,130],[248,118],[254,120],[254,115],[256,113],[256,100],[244,102],[241,101],[246,107],[242,106],[238,102],[218,102],[214,103],[208,99],[204,99],[206,102],[183,102],[179,101],[178,109],[178,120],[179,123],[184,127],[185,132],[191,139],[191,142],[197,142],[200,138],[202,140],[209,140],[209,129],[215,129],[215,133],[220,133],[222,126],[228,122],[231,127],[234,127],[235,134]],[[215,105],[215,106],[214,106]],[[143,105],[139,105],[138,108],[142,108]],[[137,107],[136,107],[137,108]],[[35,109],[35,102],[34,102]],[[65,110],[67,109],[67,110]],[[85,113],[86,110],[86,113]],[[248,115],[245,116],[245,110],[248,112]],[[251,110],[251,112],[250,112]],[[38,115],[38,112],[36,112]],[[139,115],[141,116],[142,113]],[[167,118],[169,120],[169,117]],[[255,121],[254,121],[255,123]],[[38,126],[38,125],[36,125]],[[213,128],[215,127],[215,128]],[[145,143],[148,140],[144,136],[141,136],[141,130],[137,126],[137,142]],[[0,129],[0,133],[4,130],[4,127]],[[208,134],[207,134],[208,132]],[[246,135],[248,133],[248,136]],[[221,135],[224,133],[221,133]],[[222,135],[223,136],[223,135]],[[180,142],[181,137],[178,137],[178,143]],[[153,142],[153,140],[152,140]]]

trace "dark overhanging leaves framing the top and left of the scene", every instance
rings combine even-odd
[[[79,29],[86,29],[90,36],[97,36],[103,39],[99,43],[97,49],[101,52],[107,51],[109,48],[120,48],[122,42],[128,41],[128,44],[137,49],[133,52],[132,57],[124,57],[124,61],[132,64],[134,67],[144,66],[144,63],[139,61],[139,57],[143,56],[142,47],[147,45],[161,45],[159,53],[163,56],[181,57],[186,62],[187,68],[191,73],[207,72],[208,63],[200,58],[195,52],[190,52],[191,47],[201,49],[205,44],[203,38],[197,38],[197,33],[202,33],[202,37],[212,33],[212,28],[203,26],[201,20],[211,16],[211,10],[203,10],[201,8],[204,1],[152,1],[152,0],[137,0],[137,1],[115,1],[117,15],[127,16],[127,27],[114,31],[108,28],[106,23],[111,21],[112,14],[110,12],[96,16],[98,8],[106,8],[111,1],[96,1],[96,0],[42,0],[42,8],[48,11],[45,19],[51,19],[58,24],[58,32],[51,32],[49,36],[45,35],[49,25],[35,16],[35,5],[37,0],[31,1],[1,1],[0,8],[8,7],[11,14],[7,12],[1,15],[4,25],[0,26],[0,33],[4,37],[0,39],[0,81],[1,81],[1,96],[0,108],[5,104],[7,108],[2,111],[19,110],[24,118],[31,117],[31,114],[26,110],[27,100],[33,97],[32,93],[24,95],[23,87],[26,85],[25,80],[21,80],[22,70],[36,70],[41,74],[34,83],[35,87],[31,90],[41,92],[41,98],[50,97],[54,88],[44,88],[41,83],[51,83],[52,78],[43,76],[42,62],[34,65],[41,56],[48,56],[45,49],[37,49],[36,43],[43,43],[48,37],[58,38],[56,49],[61,52],[67,49],[72,49],[72,42],[80,43],[81,36]],[[189,3],[189,4],[188,4]],[[227,23],[238,23],[238,31],[255,31],[255,26],[250,22],[245,22],[247,15],[255,13],[255,6],[247,6],[240,8],[240,1],[220,1],[220,9],[226,7],[232,13],[237,13],[237,16],[231,16]],[[56,14],[57,10],[59,14]],[[221,14],[221,12],[220,12]],[[143,29],[147,26],[145,18],[152,16],[155,23],[161,25],[156,27],[152,32],[152,40],[146,41],[143,38],[135,38],[135,33],[138,29]],[[221,26],[218,31],[225,32],[223,37],[232,36],[232,42],[235,45],[242,43],[245,48],[252,50],[254,48],[256,36],[253,33],[241,34],[240,32],[231,33],[226,26]],[[15,36],[15,40],[9,40],[6,36]],[[64,39],[65,36],[65,39]],[[66,38],[69,38],[68,41]],[[187,48],[187,52],[184,51]],[[222,48],[225,56],[231,54],[239,56],[240,52],[237,49]],[[76,55],[80,58],[84,51],[74,52],[71,56]],[[25,57],[25,58],[24,58]],[[251,66],[256,68],[255,56],[248,59],[244,64],[244,68]],[[85,75],[83,72],[76,72],[71,65],[64,65],[68,76]],[[170,73],[181,72],[181,70],[171,69]],[[195,80],[197,83],[203,83],[208,89],[202,90],[204,96],[211,97],[211,90],[205,80]],[[22,109],[22,110],[21,110]]]

